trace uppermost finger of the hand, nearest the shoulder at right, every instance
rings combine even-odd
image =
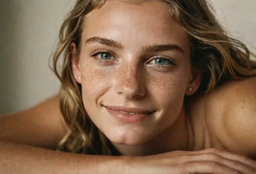
[[[238,154],[233,154],[230,153],[228,151],[222,151],[222,150],[218,150],[218,149],[204,149],[204,150],[200,150],[198,151],[199,154],[205,154],[205,153],[213,153],[213,154],[218,154],[219,156],[222,156],[224,158],[227,159],[232,159],[233,161],[238,161],[242,164],[245,164],[247,166],[250,166],[251,168],[253,168],[254,170],[256,170],[256,162],[253,161],[250,158],[247,158],[245,156],[242,155],[238,155]]]

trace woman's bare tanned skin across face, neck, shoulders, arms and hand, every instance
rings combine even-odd
[[[170,20],[164,8],[164,4],[155,1],[140,6],[111,1],[87,16],[79,57],[76,46],[71,45],[73,74],[82,84],[86,111],[126,156],[68,155],[33,148],[55,149],[68,131],[56,97],[31,110],[0,119],[0,139],[6,141],[1,143],[0,154],[11,157],[8,164],[16,166],[16,172],[22,168],[22,172],[28,173],[26,166],[33,165],[35,169],[31,170],[41,173],[44,166],[52,173],[67,170],[71,173],[72,169],[74,173],[113,173],[113,166],[116,173],[255,173],[256,163],[249,159],[256,156],[255,77],[226,82],[210,95],[192,96],[188,101],[190,108],[185,112],[183,97],[196,92],[200,74],[192,76],[188,36]],[[117,13],[120,15],[113,15]],[[138,18],[145,13],[143,20]],[[99,38],[117,40],[124,49],[100,44]],[[177,47],[153,53],[142,49],[170,43],[183,52]],[[104,64],[96,61],[99,54],[94,58],[89,56],[98,49],[109,50],[108,56],[113,55],[113,60]],[[176,63],[167,61],[165,67],[155,66],[156,56]],[[136,124],[120,123],[105,112],[105,107],[120,103],[126,107],[145,107],[154,114]],[[23,146],[9,142],[31,147],[24,150]],[[17,163],[16,158],[28,163]],[[53,164],[60,159],[61,163]],[[6,164],[0,161],[0,166],[8,171]]]

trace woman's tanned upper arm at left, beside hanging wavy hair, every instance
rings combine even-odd
[[[58,97],[29,110],[0,117],[0,140],[55,149],[68,131]]]

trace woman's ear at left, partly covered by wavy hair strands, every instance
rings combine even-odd
[[[81,83],[81,72],[80,72],[80,59],[77,56],[76,44],[70,44],[71,60],[72,60],[72,73],[77,83]]]

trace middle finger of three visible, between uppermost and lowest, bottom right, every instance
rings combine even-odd
[[[255,173],[255,170],[248,165],[245,165],[238,161],[234,161],[232,159],[224,158],[218,154],[213,154],[213,153],[182,156],[182,157],[178,157],[177,161],[179,163],[200,162],[200,161],[216,162],[216,163],[225,165],[228,168],[240,171],[242,173],[247,173],[247,174]]]

